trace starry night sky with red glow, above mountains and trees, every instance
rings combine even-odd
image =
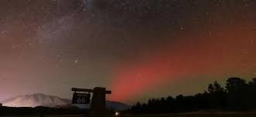
[[[1,0],[0,101],[107,87],[128,104],[256,76],[253,0]]]

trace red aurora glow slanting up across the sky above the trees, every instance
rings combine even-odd
[[[175,45],[169,45],[172,48],[164,47],[159,52],[136,58],[135,62],[118,65],[114,69],[111,99],[127,101],[165,82],[191,75],[241,72],[238,67],[244,61],[243,50],[255,49],[250,48],[255,45],[250,42],[250,37],[255,34],[239,32],[242,31],[226,30],[221,34],[216,31],[208,37],[191,35],[193,38],[184,39],[186,42],[181,39]],[[248,62],[253,62],[251,60]]]

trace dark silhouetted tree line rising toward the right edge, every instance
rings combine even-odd
[[[226,86],[218,82],[208,85],[207,91],[196,95],[177,95],[162,99],[149,99],[148,103],[137,102],[129,111],[141,113],[195,112],[195,111],[255,111],[256,79],[250,82],[230,78]]]

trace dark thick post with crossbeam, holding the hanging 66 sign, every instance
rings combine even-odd
[[[90,103],[90,117],[105,117],[106,115],[108,115],[106,114],[106,94],[111,94],[111,91],[107,91],[106,88],[101,87],[96,87],[94,89],[72,88],[72,91],[93,93],[93,98]]]

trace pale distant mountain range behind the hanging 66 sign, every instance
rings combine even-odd
[[[7,99],[2,102],[4,106],[10,107],[36,107],[36,106],[46,106],[46,107],[67,107],[72,105],[71,99],[62,99],[53,95],[45,95],[43,93],[36,93],[32,95],[19,95],[12,99]],[[88,109],[90,105],[74,105],[81,109]],[[125,110],[129,106],[121,102],[111,102],[107,101],[106,106],[108,109],[114,110]]]

